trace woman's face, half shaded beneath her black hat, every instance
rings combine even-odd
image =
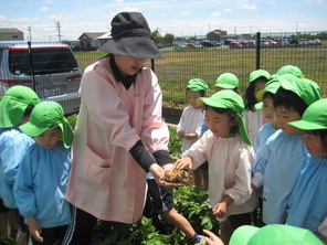
[[[123,76],[135,75],[147,62],[147,58],[115,54],[115,62]]]

